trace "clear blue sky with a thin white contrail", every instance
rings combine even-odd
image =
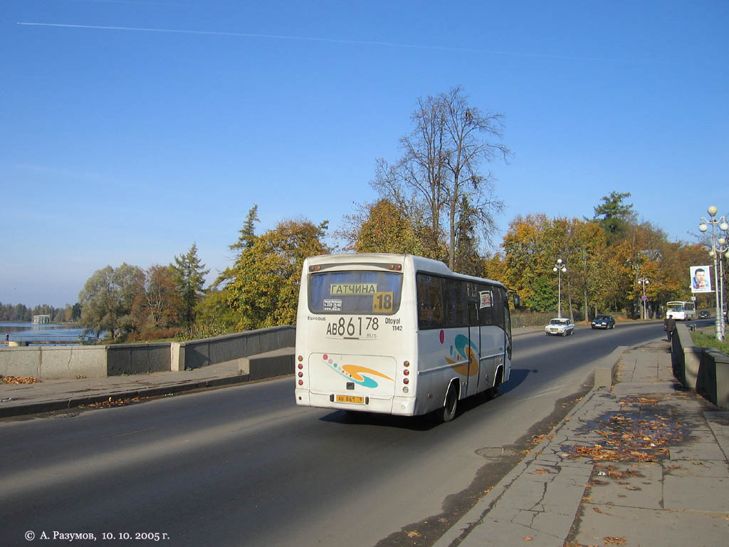
[[[504,228],[616,190],[693,241],[729,214],[727,28],[723,0],[4,0],[0,302],[193,242],[212,278],[254,203],[338,228],[456,85],[504,115]]]

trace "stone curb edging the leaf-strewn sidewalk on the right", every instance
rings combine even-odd
[[[609,354],[607,357],[604,357],[603,360],[612,360],[612,358],[615,358],[615,364],[612,366],[613,371],[615,371],[615,365],[617,365],[617,362],[620,361],[620,357],[623,356],[623,352],[625,352],[626,349],[628,349],[629,346],[619,346],[615,351],[613,351],[611,354]],[[596,365],[596,368],[601,367],[604,368],[605,365],[602,363]],[[529,454],[526,454],[525,457],[519,462],[515,468],[510,470],[509,473],[507,473],[504,478],[502,478],[501,481],[499,481],[494,488],[491,489],[486,496],[482,497],[476,505],[474,505],[469,511],[464,515],[461,516],[458,522],[456,524],[453,524],[453,526],[448,529],[445,534],[443,534],[437,542],[433,544],[433,547],[450,547],[454,541],[458,539],[464,539],[469,535],[472,529],[477,527],[480,524],[483,524],[483,517],[486,516],[486,513],[488,511],[491,511],[492,508],[494,508],[494,505],[499,501],[499,498],[502,497],[502,495],[510,488],[510,486],[516,481],[523,473],[526,471],[526,469],[531,465],[531,462],[534,462],[534,459],[537,459],[539,454],[542,453],[542,451],[549,446],[549,444],[552,442],[551,439],[554,438],[556,433],[564,427],[564,424],[572,420],[572,416],[574,414],[577,414],[582,410],[582,407],[585,406],[590,400],[592,400],[593,395],[595,395],[597,392],[603,391],[603,389],[606,386],[600,386],[600,387],[593,387],[590,389],[587,394],[585,394],[584,397],[582,397],[582,400],[580,400],[577,405],[572,408],[571,411],[567,413],[566,416],[564,416],[563,419],[560,420],[558,424],[555,425],[555,427],[550,430],[550,432],[547,434],[547,436],[537,444],[536,446],[532,447],[532,449],[529,451]]]

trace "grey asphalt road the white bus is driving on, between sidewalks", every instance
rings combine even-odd
[[[517,336],[499,397],[442,425],[299,408],[292,379],[4,419],[0,543],[429,545],[572,408],[597,360],[663,336],[658,322]]]

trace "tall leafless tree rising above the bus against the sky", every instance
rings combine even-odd
[[[413,131],[400,139],[403,157],[394,166],[379,160],[373,187],[413,222],[420,219],[432,234],[446,236],[453,268],[462,215],[472,217],[480,235],[491,241],[494,215],[504,208],[494,194],[491,173],[481,171],[483,163],[510,154],[501,142],[503,117],[469,106],[456,87],[419,99],[411,120]],[[461,211],[464,197],[471,204],[467,212]]]

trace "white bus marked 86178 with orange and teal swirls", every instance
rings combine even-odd
[[[402,416],[496,395],[511,370],[507,290],[413,255],[304,261],[296,403]]]

